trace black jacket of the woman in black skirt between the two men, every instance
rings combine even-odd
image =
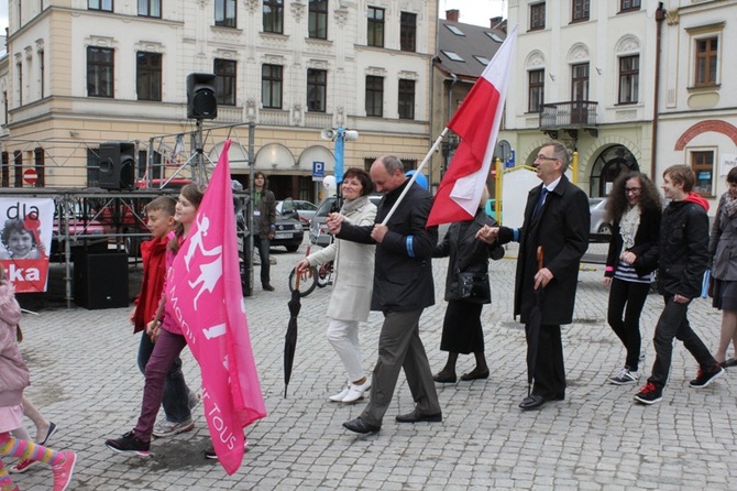
[[[451,225],[442,242],[432,252],[435,258],[450,257],[446,276],[446,301],[463,301],[474,304],[492,302],[491,288],[486,288],[490,294],[485,298],[461,298],[458,292],[458,273],[473,273],[474,276],[485,277],[488,284],[488,258],[496,260],[504,257],[502,246],[490,246],[476,239],[476,232],[485,225],[496,227],[497,223],[482,208],[476,211],[473,220],[457,221]]]

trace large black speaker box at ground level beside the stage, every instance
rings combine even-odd
[[[128,254],[75,251],[74,301],[90,310],[128,307]]]

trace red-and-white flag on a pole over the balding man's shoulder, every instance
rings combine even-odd
[[[461,144],[440,183],[428,227],[470,220],[476,214],[499,133],[516,41],[517,28],[509,33],[448,123],[448,128],[461,137]]]

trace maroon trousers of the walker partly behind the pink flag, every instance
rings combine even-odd
[[[141,415],[139,422],[133,428],[135,436],[144,441],[151,439],[154,432],[154,423],[158,407],[164,397],[164,383],[174,360],[179,358],[179,353],[187,346],[184,336],[175,335],[166,329],[162,329],[158,339],[154,343],[154,350],[146,363],[146,383],[143,386],[143,402],[141,403]],[[187,407],[189,412],[189,407]]]

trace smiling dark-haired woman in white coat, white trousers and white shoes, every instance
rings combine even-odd
[[[344,198],[341,215],[354,225],[373,225],[376,206],[369,200],[373,190],[369,173],[349,168],[341,190]],[[334,273],[328,305],[328,340],[345,367],[348,386],[329,399],[350,404],[363,399],[371,389],[371,381],[361,365],[359,323],[369,319],[374,283],[374,246],[336,239],[329,247],[299,261],[295,268],[301,271],[332,260]]]

